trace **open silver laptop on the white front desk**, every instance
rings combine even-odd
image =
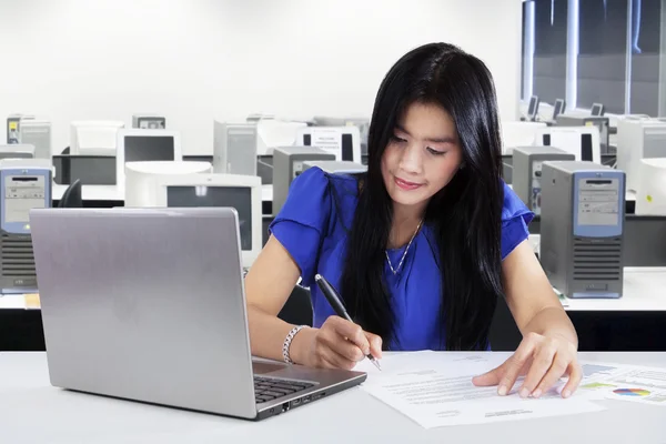
[[[51,384],[263,420],[366,374],[253,360],[234,209],[30,212]]]

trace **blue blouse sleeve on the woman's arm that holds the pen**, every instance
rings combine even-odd
[[[321,169],[311,168],[293,180],[282,210],[269,226],[299,265],[303,286],[314,284],[331,202],[329,178]]]

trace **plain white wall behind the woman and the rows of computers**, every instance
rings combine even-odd
[[[431,41],[483,59],[515,120],[521,0],[2,0],[0,120],[50,119],[60,152],[72,120],[159,112],[206,154],[214,118],[370,117],[391,64]]]

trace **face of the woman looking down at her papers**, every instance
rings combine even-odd
[[[413,103],[393,129],[384,151],[384,185],[395,203],[421,206],[446,186],[462,161],[451,115],[436,104]]]

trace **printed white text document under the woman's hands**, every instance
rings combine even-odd
[[[477,387],[472,377],[502,364],[506,356],[492,353],[416,352],[389,355],[382,369],[370,362],[356,370],[369,373],[362,389],[425,428],[527,420],[605,410],[576,396],[564,400],[564,383],[539,398],[521,398],[517,382],[506,396],[497,387]]]

